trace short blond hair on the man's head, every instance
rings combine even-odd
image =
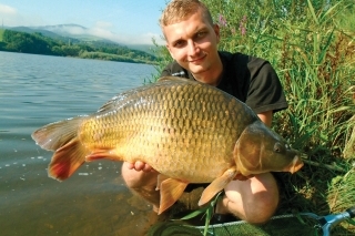
[[[178,23],[187,19],[199,10],[202,11],[202,16],[213,25],[211,12],[207,7],[199,0],[172,0],[165,8],[160,19],[160,27],[164,27],[173,23]]]

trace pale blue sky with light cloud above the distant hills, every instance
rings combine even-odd
[[[95,35],[129,44],[159,43],[166,0],[0,0],[3,27],[79,24]]]

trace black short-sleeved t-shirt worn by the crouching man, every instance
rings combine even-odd
[[[219,53],[223,63],[219,89],[244,102],[256,114],[287,109],[280,79],[267,61],[242,53]],[[162,71],[161,76],[168,75],[194,80],[193,75],[176,61]]]

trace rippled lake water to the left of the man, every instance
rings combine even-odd
[[[31,133],[97,111],[143,84],[152,65],[0,52],[1,235],[141,235],[154,220],[133,196],[121,163],[85,163],[60,183],[48,177],[51,152]]]

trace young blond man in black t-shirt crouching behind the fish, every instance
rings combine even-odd
[[[220,29],[199,0],[173,0],[161,18],[166,48],[174,59],[163,75],[181,75],[217,86],[245,102],[271,125],[273,113],[287,107],[280,80],[267,61],[241,53],[219,52]],[[158,173],[142,162],[124,163],[128,186],[159,207]],[[233,214],[250,223],[264,223],[278,204],[278,188],[271,173],[237,176],[224,188],[216,214]]]

